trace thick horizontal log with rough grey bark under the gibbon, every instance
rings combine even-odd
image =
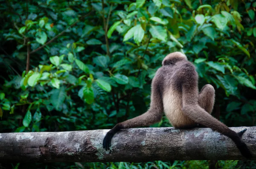
[[[243,140],[256,160],[256,127],[231,127],[236,132],[245,128]],[[0,133],[0,163],[245,159],[230,138],[209,128],[121,130],[111,152],[102,148],[108,131]]]

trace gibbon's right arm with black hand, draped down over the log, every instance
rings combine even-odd
[[[191,67],[192,68],[192,67]],[[246,144],[241,140],[241,136],[246,131],[242,130],[236,133],[233,130],[230,130],[225,124],[218,121],[216,118],[212,117],[209,113],[207,113],[203,108],[198,105],[198,84],[197,80],[191,80],[191,76],[189,74],[193,73],[195,70],[193,68],[189,73],[184,74],[183,82],[182,82],[182,111],[189,118],[195,121],[198,124],[202,124],[205,127],[209,127],[212,130],[220,132],[223,135],[231,138],[241,154],[246,158],[252,158],[252,154],[250,153]],[[190,80],[188,80],[190,79]]]

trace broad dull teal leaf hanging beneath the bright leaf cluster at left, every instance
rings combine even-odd
[[[64,87],[61,87],[60,89],[52,90],[50,102],[55,107],[55,110],[60,111],[62,109],[62,104],[65,100],[65,97],[66,97],[66,92]]]

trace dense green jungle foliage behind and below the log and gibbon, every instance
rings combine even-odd
[[[147,110],[151,79],[174,51],[194,63],[200,88],[215,87],[212,115],[230,127],[253,126],[255,9],[255,0],[0,0],[0,132],[110,129]],[[169,126],[164,117],[151,127]],[[11,167],[176,169],[211,163]],[[254,161],[214,165],[256,168]]]

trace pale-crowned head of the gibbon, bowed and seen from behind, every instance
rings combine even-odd
[[[163,59],[162,65],[163,66],[175,65],[176,62],[179,62],[183,59],[187,60],[186,55],[184,55],[181,52],[173,52],[173,53],[168,54],[167,56],[165,56],[165,58]]]

